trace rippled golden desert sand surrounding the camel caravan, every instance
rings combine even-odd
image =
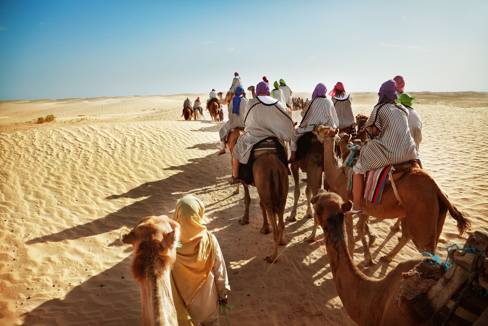
[[[451,201],[472,222],[468,234],[488,231],[488,93],[412,93],[423,123],[421,159]],[[172,216],[185,194],[206,205],[206,224],[227,265],[234,304],[269,264],[272,235],[259,233],[261,211],[251,189],[251,224],[243,192],[229,186],[230,154],[217,156],[222,123],[183,121],[183,100],[207,94],[0,102],[0,324],[140,325],[131,246],[119,240],[149,215]],[[294,96],[310,98],[311,93]],[[374,93],[353,94],[353,111],[369,114]],[[36,124],[40,116],[56,121]],[[294,112],[299,121],[299,112]],[[209,119],[207,115],[207,119]],[[305,177],[304,174],[300,175]],[[297,222],[285,222],[289,244],[307,237],[305,183]],[[286,216],[293,204],[292,180]],[[392,263],[379,258],[396,244],[394,220],[372,218],[379,238],[375,265],[365,267],[357,238],[354,260],[381,278],[420,254],[409,242]],[[438,253],[463,244],[446,218]],[[283,250],[283,247],[280,248]],[[400,285],[400,284],[399,284]],[[229,315],[232,325],[354,325],[337,296],[322,231],[314,243],[287,250]],[[221,325],[226,325],[221,318]]]

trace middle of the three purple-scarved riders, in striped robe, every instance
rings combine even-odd
[[[305,108],[301,110],[302,119],[298,128],[293,130],[293,137],[290,142],[291,155],[288,163],[296,162],[297,141],[305,133],[312,131],[314,126],[336,129],[339,125],[334,104],[325,97],[325,94],[327,94],[327,87],[322,83],[317,84],[312,94],[312,101],[307,102]]]

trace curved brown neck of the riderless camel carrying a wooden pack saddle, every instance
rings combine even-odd
[[[343,217],[329,217],[325,227],[322,225],[337,293],[349,317],[358,325],[372,320],[378,323],[371,325],[378,325],[382,316],[378,308],[381,281],[365,276],[356,267],[347,250],[342,228]]]

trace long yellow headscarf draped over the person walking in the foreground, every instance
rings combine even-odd
[[[215,261],[216,246],[202,225],[205,206],[193,195],[183,196],[176,204],[173,220],[180,223],[180,244],[171,271],[176,290],[188,306],[207,280]]]

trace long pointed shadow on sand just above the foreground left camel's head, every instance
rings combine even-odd
[[[217,174],[205,174],[201,167],[217,166],[217,157],[210,154],[205,157],[191,159],[189,163],[173,166],[164,170],[177,170],[177,174],[170,175],[158,181],[145,182],[136,188],[130,189],[124,194],[107,196],[107,200],[117,198],[141,198],[116,212],[105,217],[92,220],[85,224],[76,225],[58,233],[30,239],[26,243],[57,242],[66,239],[79,239],[90,237],[109,231],[117,230],[124,225],[133,226],[141,218],[150,215],[166,214],[174,209],[176,201],[183,195],[191,193],[194,189],[212,187],[212,190],[227,186],[227,180]],[[224,169],[222,169],[222,173]],[[199,177],[204,175],[205,177]]]

